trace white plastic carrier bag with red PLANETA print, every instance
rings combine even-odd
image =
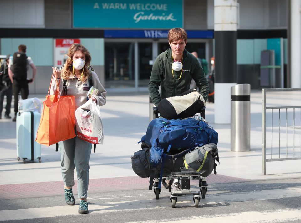
[[[77,136],[92,144],[103,144],[103,122],[100,107],[91,99],[75,111]]]

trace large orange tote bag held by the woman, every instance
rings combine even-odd
[[[37,141],[50,146],[52,144],[75,137],[75,96],[60,96],[59,85],[56,82],[56,94],[49,95],[51,82],[43,102],[44,109],[37,132]]]

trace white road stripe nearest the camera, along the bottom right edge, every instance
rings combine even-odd
[[[199,222],[231,222],[231,223],[252,223],[252,222],[290,222],[301,220],[301,210],[283,209],[276,211],[248,211],[232,214],[195,216],[187,218],[166,219],[155,221],[156,223],[199,223]],[[153,223],[154,221],[132,221],[128,223]]]

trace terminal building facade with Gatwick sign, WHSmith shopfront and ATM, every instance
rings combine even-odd
[[[213,0],[0,2],[0,54],[13,54],[18,45],[27,45],[27,55],[37,66],[31,93],[45,94],[51,67],[64,62],[74,42],[90,51],[91,65],[109,92],[147,90],[152,63],[169,48],[167,33],[173,27],[187,31],[189,52],[197,51],[208,62],[214,56]],[[238,3],[237,83],[260,88],[261,51],[273,49],[276,75],[289,87],[289,1]]]

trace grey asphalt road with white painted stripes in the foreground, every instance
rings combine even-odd
[[[179,196],[176,208],[171,208],[169,195],[166,189],[162,189],[159,200],[147,189],[90,193],[87,215],[77,214],[78,200],[68,206],[62,195],[6,199],[0,202],[0,221],[301,222],[301,179],[210,184],[198,208],[192,196]]]

